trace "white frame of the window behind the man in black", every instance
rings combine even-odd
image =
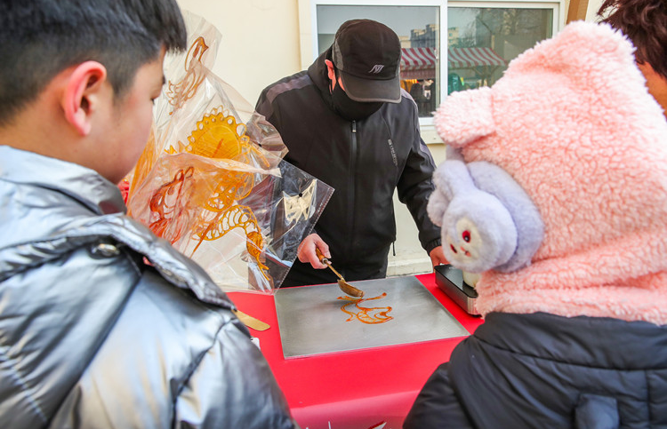
[[[486,0],[466,1],[457,0],[297,0],[299,9],[300,42],[301,42],[301,69],[309,68],[317,59],[317,6],[434,6],[438,7],[439,45],[438,60],[440,73],[438,88],[440,101],[447,97],[447,8],[448,7],[478,7],[478,8],[522,8],[522,9],[551,9],[553,10],[553,36],[563,27],[566,21],[566,0]],[[422,131],[433,128],[432,117],[419,119]]]

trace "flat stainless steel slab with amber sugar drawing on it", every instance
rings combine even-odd
[[[336,283],[277,290],[285,359],[470,335],[414,276],[350,282],[364,290],[363,307],[391,307],[387,322],[367,324],[342,311],[350,301]],[[355,309],[350,304],[347,308]],[[371,314],[377,314],[377,310]]]

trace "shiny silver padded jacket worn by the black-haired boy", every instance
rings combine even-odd
[[[0,147],[0,427],[295,427],[229,298],[124,211]]]

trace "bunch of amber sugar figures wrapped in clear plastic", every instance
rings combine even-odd
[[[128,210],[222,290],[272,293],[333,188],[282,159],[275,128],[210,71],[220,33],[184,15],[190,48],[165,58],[155,126],[127,178]]]

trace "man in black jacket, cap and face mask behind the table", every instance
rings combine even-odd
[[[350,20],[307,71],[261,92],[255,108],[280,132],[285,160],[335,189],[283,286],[336,281],[316,248],[348,281],[383,278],[396,240],[395,189],[433,265],[446,263],[440,230],[426,213],[434,163],[414,100],[400,88],[400,60],[390,28]]]

